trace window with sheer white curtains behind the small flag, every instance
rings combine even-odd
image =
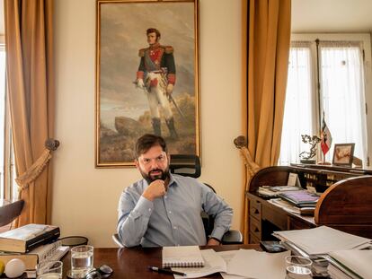
[[[332,147],[355,143],[354,155],[368,164],[368,61],[369,35],[292,36],[279,164],[299,162],[299,153],[309,151],[301,135],[319,136],[323,114]],[[317,154],[320,160],[320,148]],[[332,154],[333,148],[325,160]]]

